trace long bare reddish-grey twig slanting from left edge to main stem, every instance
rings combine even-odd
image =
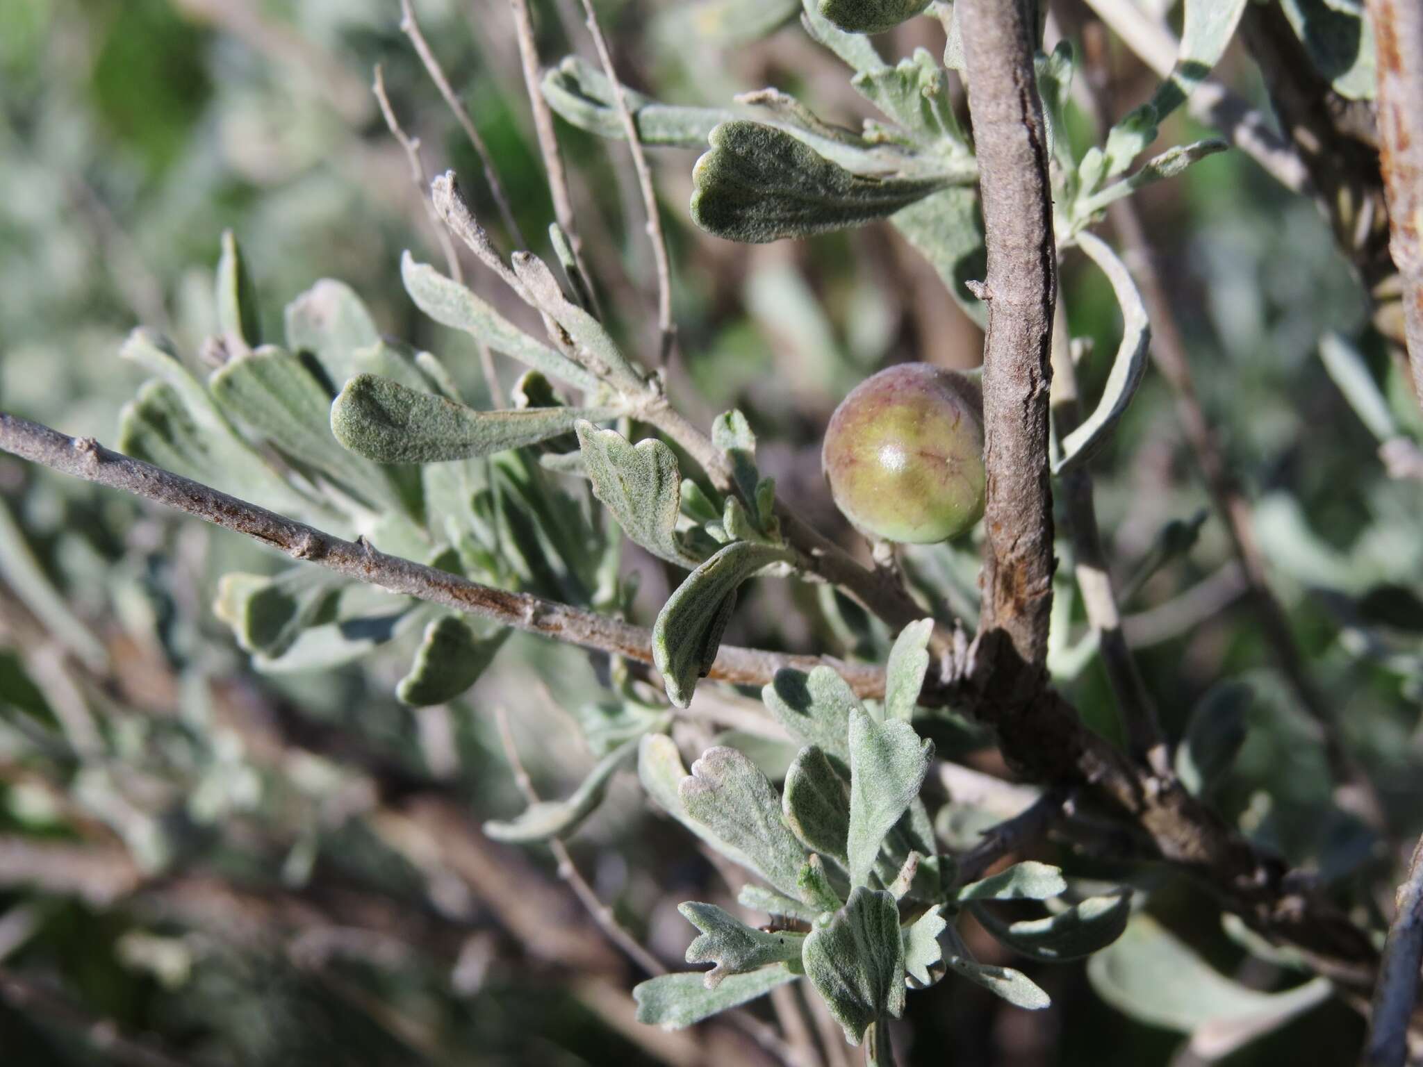
[[[386,555],[364,539],[343,541],[201,482],[110,451],[91,437],[67,437],[38,423],[0,413],[0,451],[175,508],[243,534],[293,559],[324,566],[393,593],[416,596],[528,633],[601,649],[642,663],[652,662],[652,633],[640,626],[528,593],[470,582],[445,570]],[[884,693],[884,671],[874,667],[729,644],[721,646],[709,677],[737,684],[766,684],[783,667],[810,670],[820,664],[834,667],[862,696]]]

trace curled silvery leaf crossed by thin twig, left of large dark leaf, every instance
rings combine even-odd
[[[549,107],[579,129],[619,141],[623,138],[612,85],[591,63],[576,55],[566,57],[544,75],[542,90]],[[719,108],[659,104],[626,87],[623,94],[645,145],[700,148],[717,122],[733,117]]]

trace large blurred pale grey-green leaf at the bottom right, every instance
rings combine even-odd
[[[1261,993],[1225,977],[1150,915],[1087,962],[1097,996],[1148,1026],[1191,1034],[1201,1057],[1220,1058],[1329,999],[1316,977],[1284,993]]]

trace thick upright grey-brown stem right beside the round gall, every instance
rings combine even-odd
[[[1040,673],[1053,598],[1047,396],[1057,266],[1047,139],[1033,77],[1033,37],[1017,0],[965,0],[973,141],[988,243],[983,440],[988,467],[983,613]],[[1025,679],[1026,680],[1026,679]]]

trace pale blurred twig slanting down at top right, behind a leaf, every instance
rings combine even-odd
[[[1167,77],[1181,51],[1171,31],[1136,0],[1087,0],[1111,30],[1160,77]],[[1299,154],[1271,129],[1268,120],[1215,78],[1207,78],[1187,101],[1190,112],[1215,127],[1291,192],[1311,189],[1309,171]]]

